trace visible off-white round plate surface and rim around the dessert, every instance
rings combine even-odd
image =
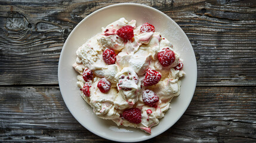
[[[171,109],[160,120],[159,125],[152,128],[152,134],[149,135],[143,130],[134,128],[125,128],[117,126],[112,120],[103,120],[98,118],[79,95],[79,89],[76,86],[77,73],[72,64],[76,60],[76,50],[87,39],[101,32],[101,27],[125,17],[129,20],[137,20],[137,26],[148,22],[155,26],[156,32],[160,32],[174,45],[175,51],[180,54],[184,60],[184,71],[186,76],[182,80],[181,94],[171,102]],[[121,142],[144,141],[153,138],[165,130],[169,129],[186,111],[192,100],[197,78],[196,58],[189,42],[189,39],[171,18],[156,10],[140,4],[115,4],[101,8],[88,15],[82,20],[70,33],[60,54],[58,63],[58,82],[64,102],[69,111],[78,120],[81,125],[106,139]]]

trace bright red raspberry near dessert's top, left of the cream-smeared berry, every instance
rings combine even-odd
[[[134,37],[133,27],[132,26],[123,26],[121,29],[118,29],[117,34],[124,40],[130,40]]]

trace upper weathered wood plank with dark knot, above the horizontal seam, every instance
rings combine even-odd
[[[255,1],[121,1],[154,7],[187,34],[198,86],[256,85]],[[0,3],[0,85],[57,85],[63,43],[84,17],[116,1]]]

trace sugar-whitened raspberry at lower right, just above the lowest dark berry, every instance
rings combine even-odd
[[[143,92],[142,98],[143,98],[143,102],[146,105],[149,105],[150,107],[153,107],[155,103],[159,101],[158,96],[153,91],[150,91],[149,89]]]

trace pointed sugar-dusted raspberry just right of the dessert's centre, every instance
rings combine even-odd
[[[156,70],[147,69],[144,79],[144,86],[156,85],[161,80],[161,73]]]

